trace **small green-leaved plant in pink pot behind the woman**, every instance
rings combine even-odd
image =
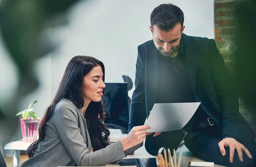
[[[18,112],[16,116],[22,115],[20,118],[20,127],[22,138],[26,143],[32,143],[38,138],[38,127],[41,119],[37,118],[36,113],[32,112],[32,106],[37,101],[33,101],[27,109],[24,109],[21,112]],[[29,117],[30,116],[30,117]]]

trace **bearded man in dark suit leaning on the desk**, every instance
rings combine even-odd
[[[150,21],[153,40],[138,46],[128,130],[144,124],[154,103],[201,102],[183,128],[186,147],[216,164],[253,166],[255,134],[239,113],[238,95],[215,41],[183,34],[183,12],[173,4],[157,6]],[[156,155],[161,147],[177,149],[183,130],[148,135],[146,150]]]

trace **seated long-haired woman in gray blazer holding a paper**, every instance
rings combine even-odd
[[[148,126],[134,127],[127,137],[110,144],[110,132],[102,124],[104,72],[96,58],[70,60],[22,167],[102,166],[142,146]]]

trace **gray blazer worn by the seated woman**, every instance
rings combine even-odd
[[[90,136],[81,109],[63,99],[46,123],[45,136],[38,145],[37,153],[21,167],[102,166],[125,158],[142,145],[124,152],[121,142],[116,141],[90,152]]]

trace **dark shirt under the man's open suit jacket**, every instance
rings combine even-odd
[[[189,56],[189,55],[186,55]],[[196,102],[195,95],[187,77],[183,41],[181,39],[180,52],[172,57],[159,55],[157,103],[189,103]],[[194,129],[201,121],[209,116],[201,107],[183,128],[186,131]]]

